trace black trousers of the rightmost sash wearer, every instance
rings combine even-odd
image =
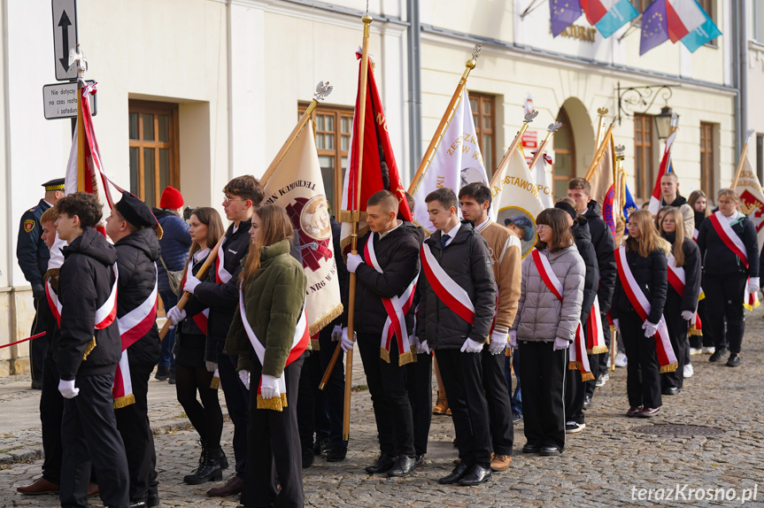
[[[745,313],[743,312],[743,292],[748,282],[745,273],[727,273],[724,275],[703,274],[703,291],[706,293],[708,309],[708,328],[714,337],[716,348],[729,348],[730,352],[739,353],[745,332]],[[724,320],[727,320],[727,333],[724,333]],[[702,318],[701,318],[702,319]],[[704,328],[706,324],[704,323]]]

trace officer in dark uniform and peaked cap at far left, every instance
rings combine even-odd
[[[36,206],[24,212],[19,226],[19,241],[16,243],[16,258],[24,273],[24,277],[32,284],[32,296],[35,298],[35,320],[32,322],[30,335],[45,331],[45,323],[40,318],[40,305],[45,303],[45,289],[42,286],[42,276],[48,270],[50,252],[42,241],[42,213],[58,202],[64,196],[64,179],[46,181],[45,197]],[[48,352],[48,341],[42,339],[31,341],[29,344],[29,369],[32,371],[32,388],[42,389],[42,364]]]

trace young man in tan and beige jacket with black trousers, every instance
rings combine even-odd
[[[462,217],[474,221],[475,230],[488,242],[490,263],[497,285],[498,301],[490,344],[482,350],[481,355],[482,384],[488,401],[493,446],[490,468],[499,472],[505,471],[512,463],[514,435],[509,396],[511,389],[507,386],[504,369],[507,335],[520,299],[522,256],[520,238],[489,219],[490,202],[490,189],[480,182],[470,183],[459,190]],[[511,378],[509,382],[512,382]]]

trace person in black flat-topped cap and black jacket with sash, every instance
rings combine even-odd
[[[115,400],[117,427],[127,452],[130,472],[130,506],[156,506],[158,497],[157,454],[149,424],[149,379],[159,360],[157,329],[157,266],[159,242],[157,219],[143,201],[122,193],[122,199],[106,219],[106,234],[117,249],[120,279],[117,285],[117,320],[133,397]],[[127,317],[129,315],[129,317]],[[127,373],[124,373],[127,375]],[[131,402],[130,398],[135,398]]]

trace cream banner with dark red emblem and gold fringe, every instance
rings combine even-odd
[[[332,227],[321,177],[312,120],[265,184],[263,204],[280,204],[292,220],[308,279],[306,313],[310,335],[343,312],[332,249]]]

